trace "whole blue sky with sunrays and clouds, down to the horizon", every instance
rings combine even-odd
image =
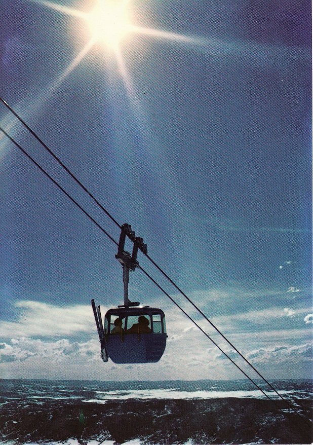
[[[129,0],[120,53],[108,33],[87,50],[95,6],[6,2],[1,95],[265,377],[310,377],[310,5]],[[0,122],[119,238],[3,105]],[[0,177],[3,377],[241,377],[140,271],[130,298],[164,309],[166,352],[103,364],[90,300],[122,303],[115,246],[5,137]]]

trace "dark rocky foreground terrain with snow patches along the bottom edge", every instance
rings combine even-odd
[[[138,438],[143,444],[312,443],[311,428],[293,412],[262,399],[45,400],[0,406],[0,441],[16,443],[96,439],[117,444]],[[310,415],[310,401],[297,400]]]

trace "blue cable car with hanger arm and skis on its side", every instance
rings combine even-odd
[[[133,253],[124,251],[126,235],[134,242]],[[153,363],[160,360],[166,347],[166,324],[162,309],[141,306],[128,299],[129,271],[139,266],[138,248],[147,253],[142,238],[135,237],[131,226],[124,224],[116,259],[123,267],[124,305],[109,309],[102,323],[100,306],[91,301],[98,330],[101,357],[114,363]]]

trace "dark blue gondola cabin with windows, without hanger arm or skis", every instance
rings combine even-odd
[[[107,355],[114,363],[159,361],[167,338],[164,312],[150,307],[109,309],[104,336]]]

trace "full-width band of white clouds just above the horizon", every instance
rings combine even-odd
[[[212,299],[218,300],[219,294],[213,292],[210,295]],[[164,379],[186,380],[242,377],[236,367],[225,360],[221,352],[177,308],[171,307],[166,311],[169,338],[162,359],[158,363],[126,367],[126,365],[115,365],[111,360],[106,364],[101,361],[91,307],[73,305],[62,308],[31,301],[18,302],[16,306],[20,311],[18,320],[0,322],[0,337],[4,337],[4,333],[6,335],[6,341],[0,344],[1,373],[5,378],[32,378],[34,375],[37,378],[100,380],[133,380],[134,378],[155,380],[158,378],[156,376],[162,376]],[[292,311],[289,308],[285,309]],[[105,309],[103,309],[103,314],[104,312]],[[297,309],[294,312],[294,315],[303,314],[303,319],[308,309],[304,311]],[[268,323],[272,327],[275,325],[272,323],[273,317],[283,320],[286,316],[288,313],[284,313],[283,307],[275,307],[231,316],[213,317],[211,320],[222,332],[226,333],[225,329],[228,331],[227,337],[239,350],[247,351],[247,346],[249,346],[248,353],[254,352],[255,360],[259,360],[260,363],[265,363],[267,356],[277,355],[279,357],[277,360],[285,363],[284,369],[280,368],[280,372],[284,375],[289,369],[288,360],[281,356],[286,355],[286,351],[289,351],[289,356],[292,355],[290,345],[296,348],[296,345],[308,341],[304,340],[304,337],[308,336],[308,329],[305,329],[303,324],[303,331],[300,329],[268,331]],[[49,322],[46,323],[46,320]],[[230,357],[235,357],[229,345],[224,344],[224,341],[206,321],[198,321],[199,318],[196,320]],[[246,321],[249,320],[249,322],[255,321],[258,329],[253,333],[245,332],[243,335],[240,329],[236,329],[238,320],[240,323],[237,327],[246,325]],[[263,330],[260,331],[260,328]],[[12,332],[14,332],[14,338],[11,338]],[[72,338],[72,335],[75,337]],[[76,341],[77,337],[79,341]],[[285,351],[283,353],[278,350],[281,346],[276,345],[285,342],[288,346],[281,349]],[[260,345],[266,346],[262,349]],[[297,363],[300,355],[300,351],[294,349],[292,362]],[[22,366],[21,362],[23,362]],[[275,364],[276,361],[273,359],[271,370],[275,369]],[[299,367],[299,369],[302,368]],[[296,372],[301,371],[296,370]]]

